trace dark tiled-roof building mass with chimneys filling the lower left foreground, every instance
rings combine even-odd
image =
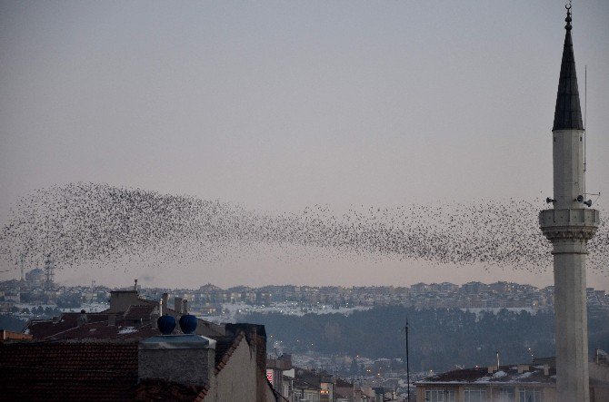
[[[27,334],[0,342],[0,400],[281,399],[265,376],[264,326],[196,319],[136,290],[113,291],[110,301],[100,313],[32,320]],[[190,319],[162,335],[160,311]]]

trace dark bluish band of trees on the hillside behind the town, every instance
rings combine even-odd
[[[554,356],[554,313],[540,310],[478,314],[461,309],[414,309],[387,306],[342,314],[248,313],[238,318],[264,324],[266,333],[281,340],[285,352],[314,350],[326,355],[405,359],[406,320],[409,358],[414,370],[447,370],[531,362]],[[589,317],[589,345],[609,349],[606,317]],[[269,338],[270,339],[270,338]],[[269,342],[269,348],[272,348]]]

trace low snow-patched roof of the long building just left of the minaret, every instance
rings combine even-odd
[[[544,375],[543,366],[529,367],[523,372],[518,373],[517,366],[502,366],[493,374],[488,372],[488,368],[464,368],[461,370],[447,371],[427,377],[421,384],[437,383],[467,383],[467,384],[486,384],[486,383],[555,383],[554,368],[550,368],[550,375]]]

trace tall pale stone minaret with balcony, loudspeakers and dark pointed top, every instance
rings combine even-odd
[[[585,296],[586,243],[598,228],[599,213],[588,207],[584,189],[584,124],[577,90],[571,5],[566,5],[554,128],[554,209],[541,211],[540,227],[553,244],[556,319],[556,395],[564,402],[590,400],[588,323]]]

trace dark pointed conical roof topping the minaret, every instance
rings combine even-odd
[[[570,7],[567,9],[564,21],[566,21],[564,26],[566,34],[564,34],[563,62],[560,67],[552,130],[584,130],[582,108],[579,104],[579,91],[577,90],[577,74],[575,74]]]

